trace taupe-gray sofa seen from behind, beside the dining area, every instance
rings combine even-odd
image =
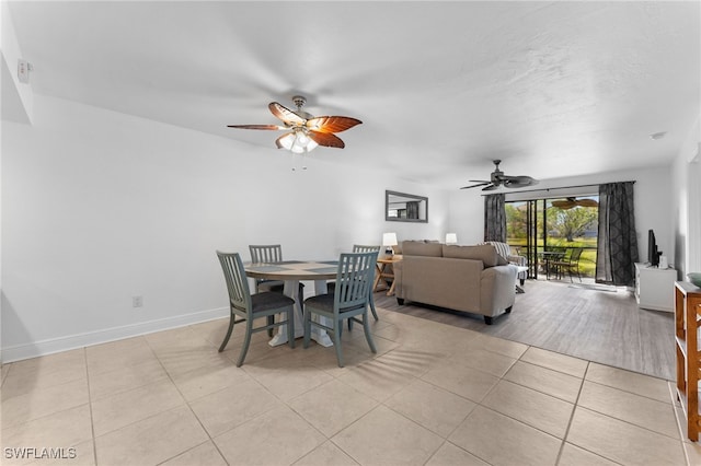
[[[456,246],[404,241],[394,264],[397,301],[447,307],[493,317],[508,314],[515,302],[516,268],[493,245]]]

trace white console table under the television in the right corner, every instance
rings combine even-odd
[[[674,312],[677,270],[635,264],[635,300],[637,307]]]

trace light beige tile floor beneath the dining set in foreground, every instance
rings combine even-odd
[[[226,319],[4,364],[1,463],[701,464],[667,381],[378,311],[345,368]]]

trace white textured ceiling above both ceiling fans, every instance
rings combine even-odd
[[[700,2],[14,1],[34,92],[275,149],[267,104],[364,121],[343,150],[460,187],[662,165],[700,114]],[[667,131],[660,140],[650,135]],[[280,156],[286,156],[280,151]]]

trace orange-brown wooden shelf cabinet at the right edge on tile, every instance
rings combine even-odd
[[[701,288],[686,281],[675,282],[675,340],[677,347],[677,397],[687,417],[689,440],[699,440],[699,319]]]

